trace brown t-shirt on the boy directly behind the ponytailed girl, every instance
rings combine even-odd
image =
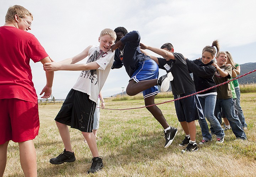
[[[216,85],[222,84],[223,82],[228,81],[232,75],[232,67],[231,66],[226,66],[226,65],[220,66],[220,69],[222,69],[223,71],[227,71],[229,75],[226,77],[222,77],[222,76],[220,76],[219,71],[216,71],[213,76],[213,79],[214,79],[214,82],[216,83]],[[230,82],[217,87],[217,98],[221,98],[221,99],[232,98]]]

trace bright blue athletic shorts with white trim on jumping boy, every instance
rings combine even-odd
[[[139,61],[136,70],[134,71],[130,80],[135,82],[158,79],[158,65],[154,60]],[[143,91],[144,99],[159,93],[158,86],[150,87]]]

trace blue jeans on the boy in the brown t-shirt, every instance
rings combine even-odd
[[[233,98],[228,98],[228,99],[217,98],[216,104],[215,104],[215,110],[214,110],[215,117],[218,116],[218,113],[220,112],[221,109],[223,110],[226,118],[228,119],[231,129],[235,134],[236,138],[246,139],[246,135],[242,128],[242,124],[238,116],[235,114]]]

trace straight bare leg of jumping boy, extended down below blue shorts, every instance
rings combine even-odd
[[[142,81],[140,81],[142,82]],[[139,83],[139,82],[138,82]],[[155,104],[155,96],[151,96],[144,99],[145,106]],[[157,106],[150,106],[146,107],[148,111],[155,117],[155,119],[162,125],[164,129],[170,127],[170,125],[167,123],[164,115],[162,114],[162,111]]]

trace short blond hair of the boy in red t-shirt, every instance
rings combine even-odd
[[[33,20],[33,15],[25,7],[22,7],[20,5],[14,5],[14,6],[9,7],[9,9],[7,10],[7,13],[5,15],[5,22],[7,22],[7,21],[15,22],[15,20],[14,20],[15,15],[18,15],[21,18],[30,16]]]

